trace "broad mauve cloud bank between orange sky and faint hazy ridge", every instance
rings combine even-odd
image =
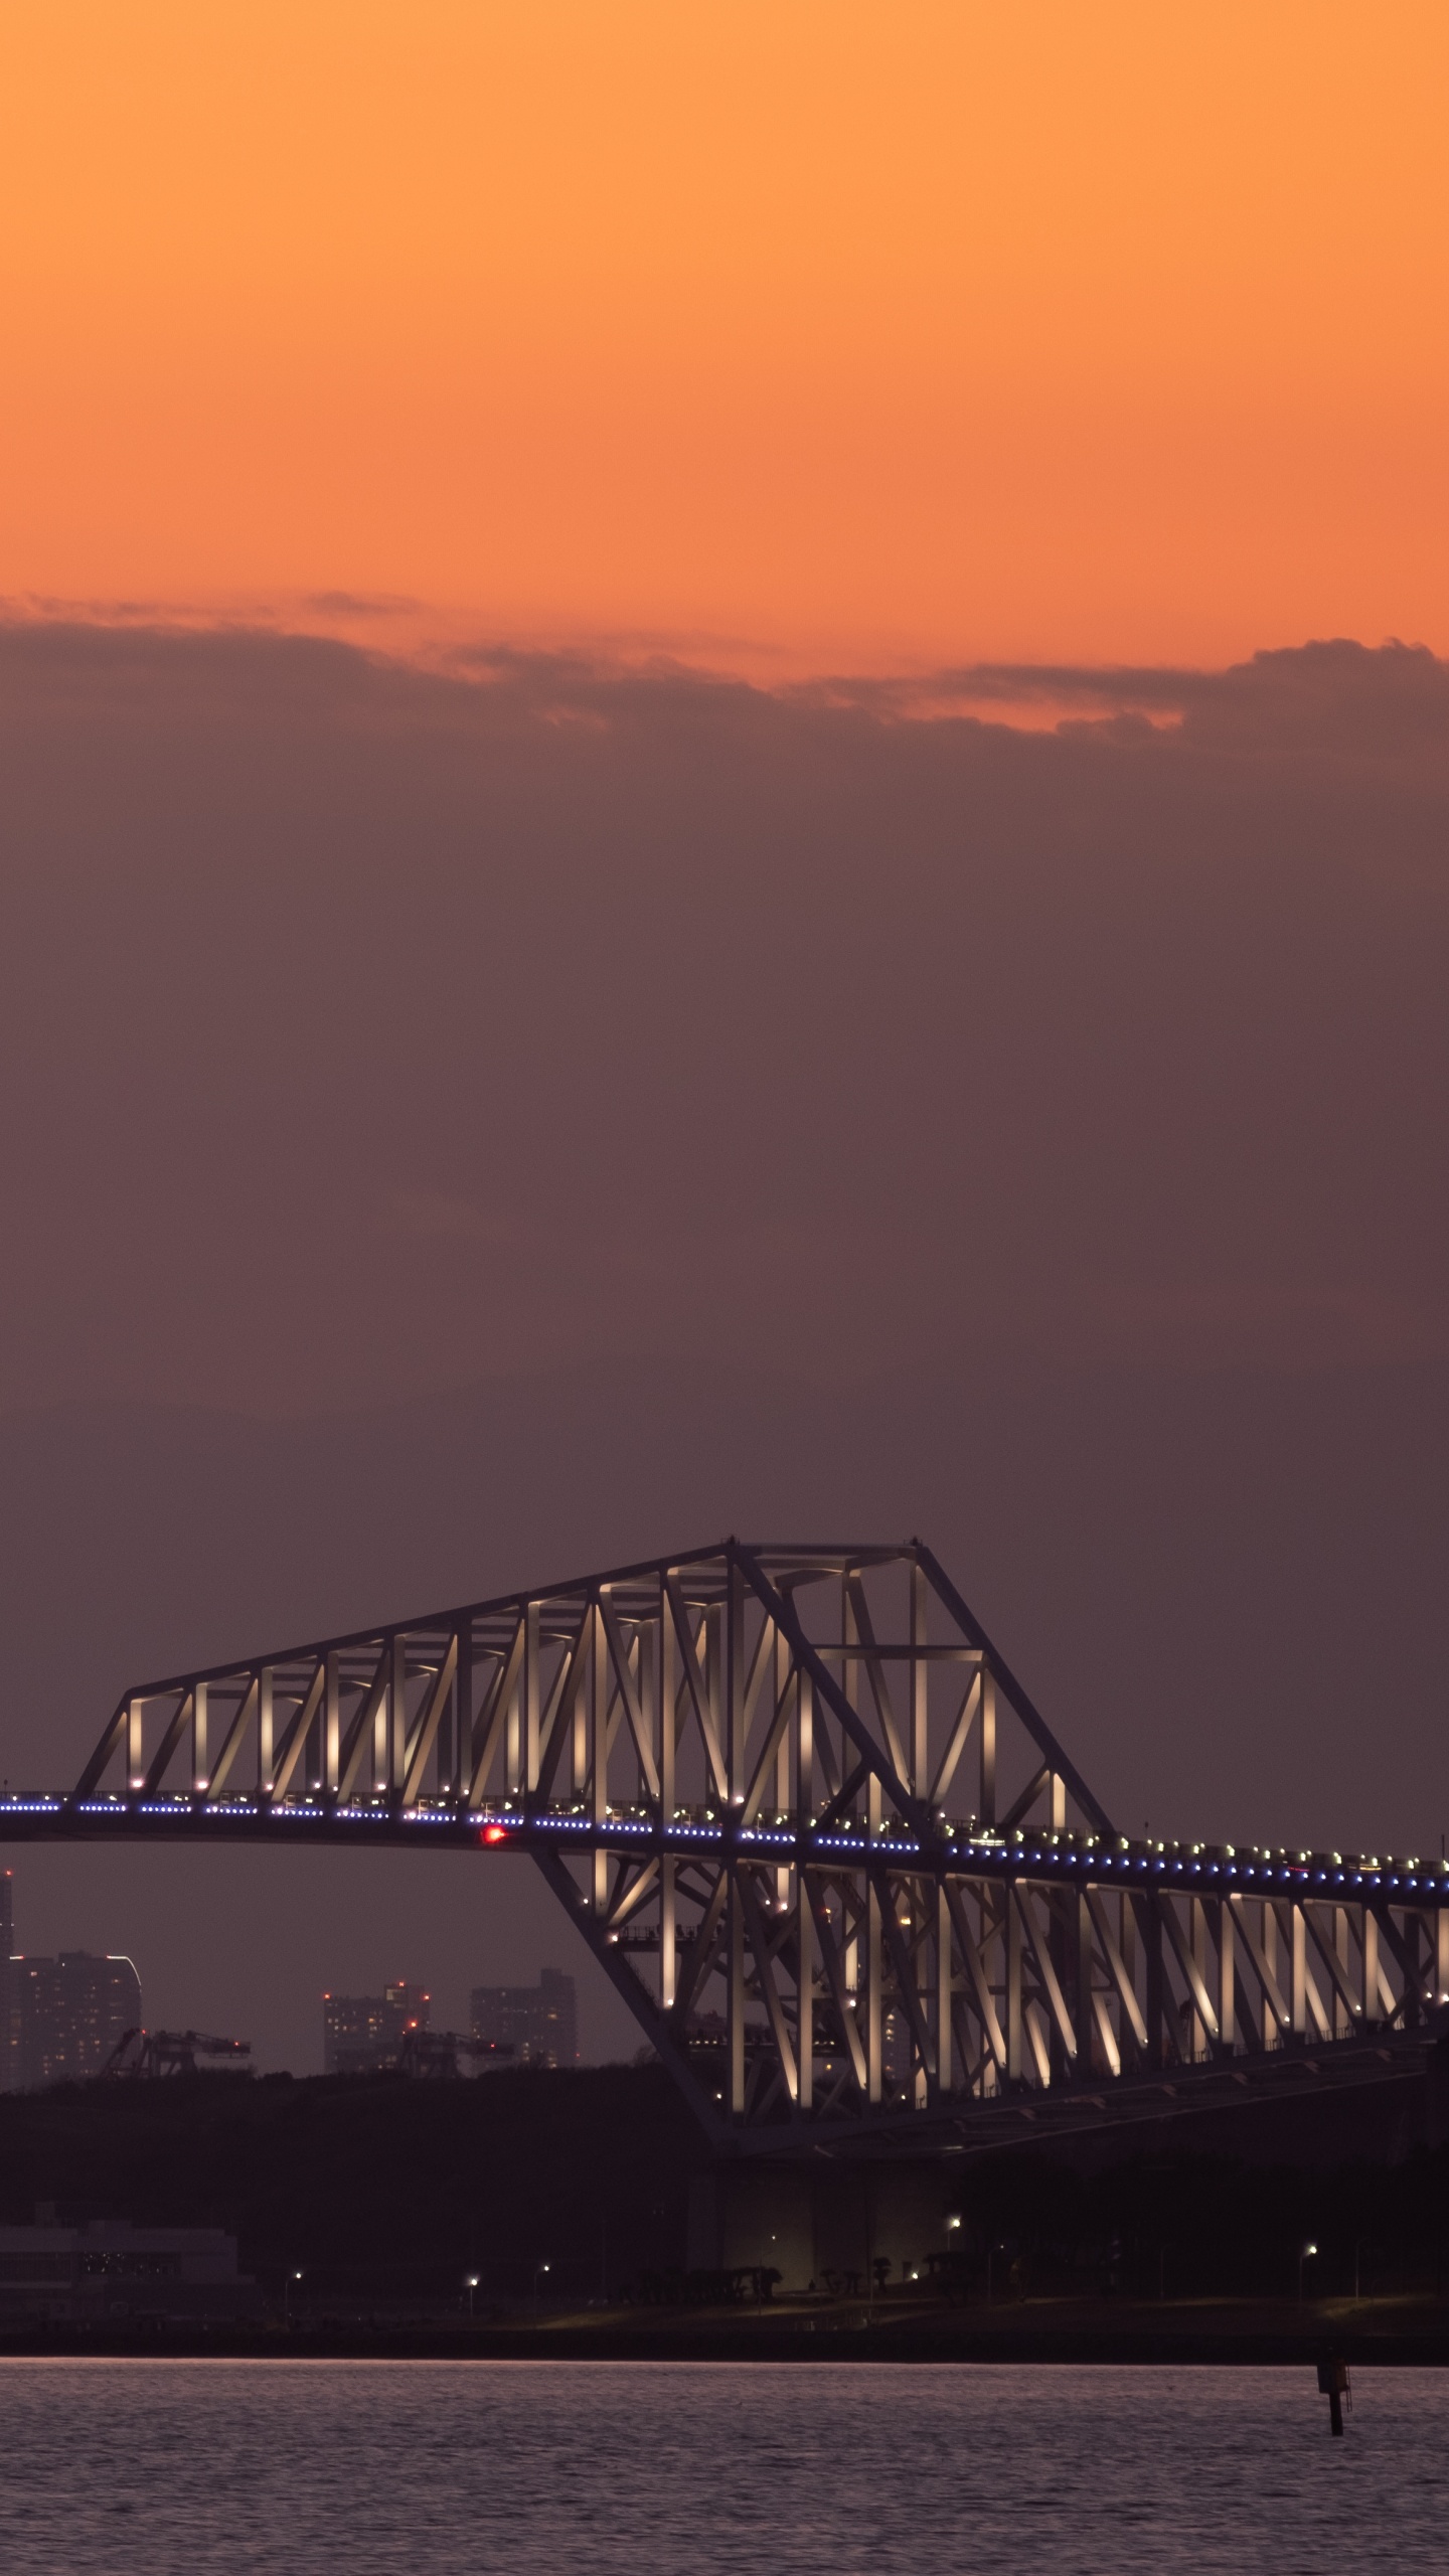
[[[1444,665],[951,690],[0,629],[0,1401],[1441,1350]]]

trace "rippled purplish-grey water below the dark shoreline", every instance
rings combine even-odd
[[[1320,2576],[1444,2563],[1449,2372],[0,2362],[0,2566]]]

